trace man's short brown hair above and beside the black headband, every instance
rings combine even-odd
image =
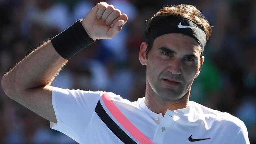
[[[150,30],[158,23],[160,20],[167,18],[169,16],[178,16],[182,18],[187,18],[199,26],[204,30],[206,33],[206,41],[211,35],[211,26],[209,22],[206,20],[202,13],[195,7],[188,4],[180,4],[180,5],[173,5],[171,7],[163,7],[153,15],[152,18],[147,22],[146,30],[145,30],[145,38],[148,44],[147,46],[147,53],[146,58],[148,57],[148,52],[151,50],[153,41],[148,41],[148,35]]]

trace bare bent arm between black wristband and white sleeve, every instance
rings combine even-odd
[[[45,42],[2,77],[1,85],[9,98],[52,122],[57,122],[52,107],[52,87],[48,85],[67,60]]]

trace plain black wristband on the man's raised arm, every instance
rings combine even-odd
[[[70,59],[78,51],[94,42],[83,28],[82,20],[76,21],[72,26],[51,39],[56,52],[64,59]]]

